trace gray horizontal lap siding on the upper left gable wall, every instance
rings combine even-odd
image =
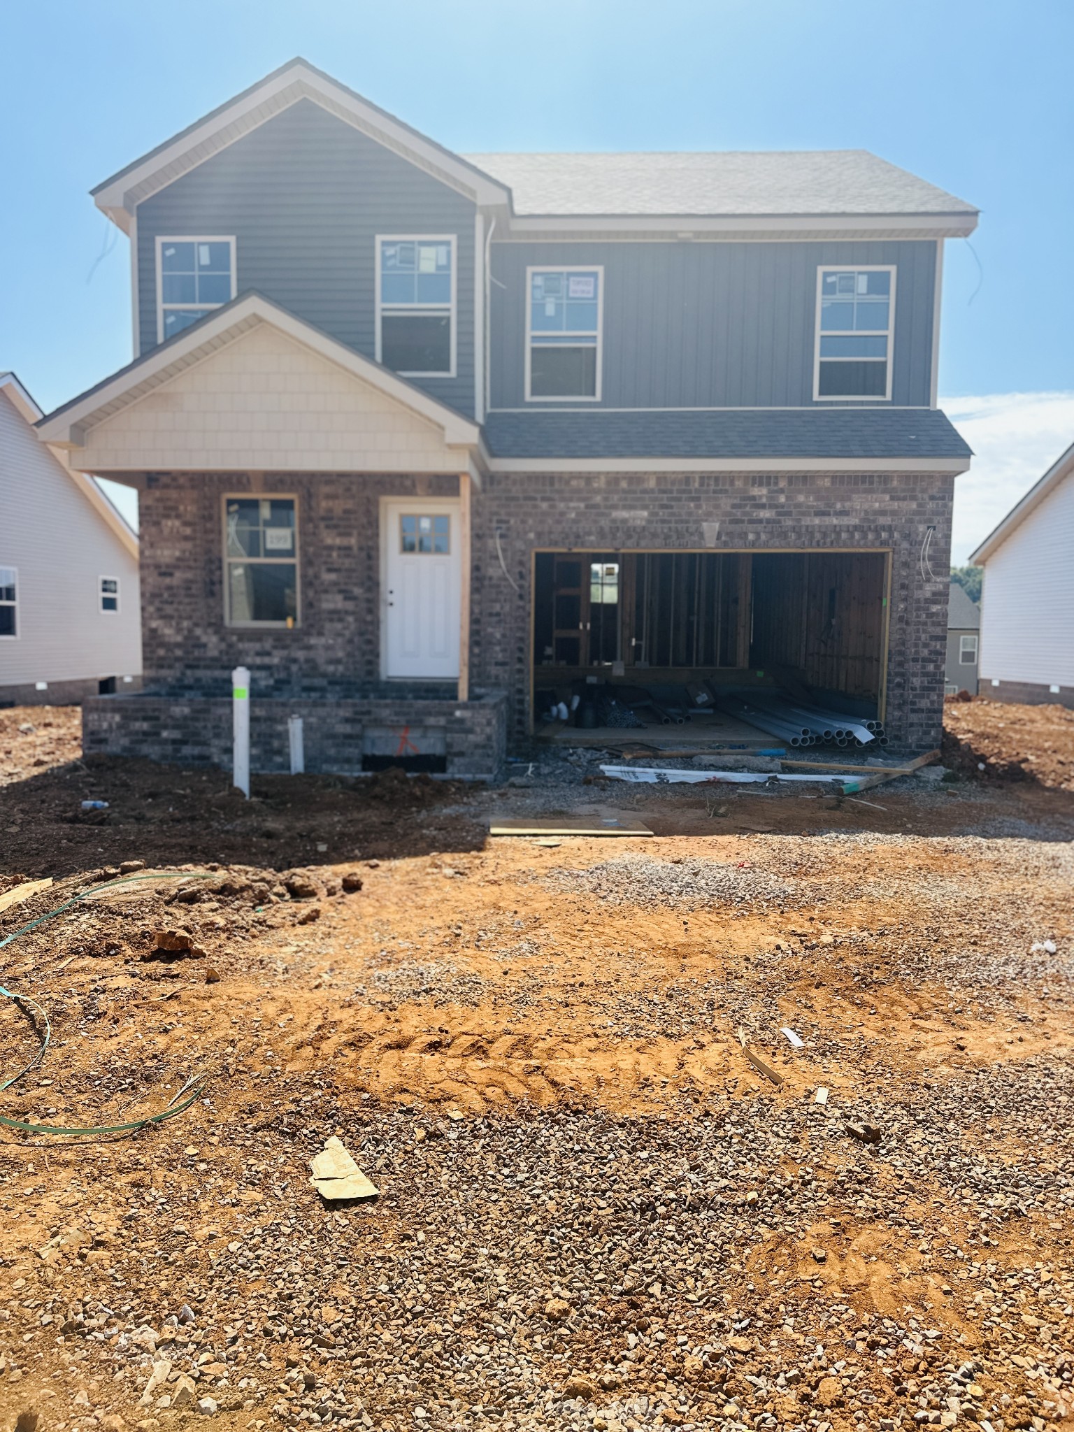
[[[454,233],[455,377],[412,379],[474,412],[474,216],[464,195],[299,100],[137,206],[139,334],[158,344],[158,235],[235,235],[238,292],[259,289],[375,357],[375,236]]]

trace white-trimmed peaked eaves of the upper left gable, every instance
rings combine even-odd
[[[119,169],[90,190],[93,200],[125,233],[135,208],[182,175],[242,139],[301,99],[309,99],[434,178],[483,205],[508,205],[510,193],[470,160],[453,153],[401,119],[372,105],[301,56],[281,64],[233,99],[179,130],[156,149]]]

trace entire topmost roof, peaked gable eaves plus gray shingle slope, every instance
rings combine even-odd
[[[861,149],[783,153],[457,155],[301,57],[219,105],[117,170],[92,193],[130,232],[137,205],[299,100],[338,119],[471,198],[510,228],[551,218],[620,226],[680,218],[703,228],[909,231],[965,235],[977,209]],[[514,193],[513,193],[514,190]],[[584,221],[584,222],[581,222]],[[654,222],[654,221],[663,221]]]

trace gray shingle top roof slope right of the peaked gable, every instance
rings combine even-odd
[[[518,215],[977,213],[866,149],[463,155]]]

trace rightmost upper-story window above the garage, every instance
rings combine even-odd
[[[816,275],[815,398],[891,398],[895,268]]]

